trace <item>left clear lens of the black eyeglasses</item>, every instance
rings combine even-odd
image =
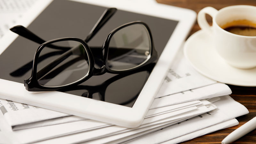
[[[77,41],[60,41],[51,45],[70,50],[45,59],[37,65],[37,81],[42,86],[58,87],[75,83],[89,73],[89,57],[83,44]],[[49,46],[49,45],[48,45]],[[45,46],[39,54],[56,51]]]

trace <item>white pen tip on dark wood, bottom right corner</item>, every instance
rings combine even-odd
[[[235,131],[231,132],[225,139],[221,141],[222,144],[228,144],[230,142],[233,142],[248,132],[251,132],[256,128],[256,117],[252,118],[250,121],[245,123],[244,125],[237,128]]]

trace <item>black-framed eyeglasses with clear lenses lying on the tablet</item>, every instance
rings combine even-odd
[[[43,43],[36,50],[32,75],[24,80],[26,89],[60,90],[81,84],[95,75],[130,72],[154,62],[157,52],[151,32],[142,21],[126,23],[112,30],[102,47],[88,46],[87,43],[115,12],[116,8],[107,9],[84,40],[65,37],[45,42],[22,26],[11,28],[20,36]],[[95,61],[99,68],[95,67]]]

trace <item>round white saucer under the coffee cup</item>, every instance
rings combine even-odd
[[[239,69],[228,65],[215,51],[211,37],[202,30],[188,38],[184,55],[198,72],[213,80],[239,86],[256,86],[256,68]]]

